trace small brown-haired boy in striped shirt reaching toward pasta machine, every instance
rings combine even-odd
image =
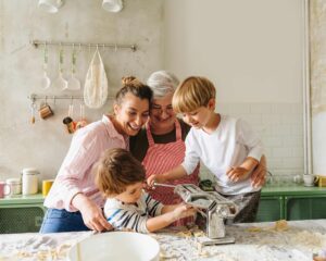
[[[186,204],[163,206],[143,192],[145,169],[128,151],[104,151],[96,165],[96,184],[106,197],[104,215],[116,229],[150,233],[195,214]]]

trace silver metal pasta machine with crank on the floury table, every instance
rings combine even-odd
[[[203,245],[231,244],[234,237],[225,237],[225,220],[233,220],[238,212],[238,207],[233,201],[222,197],[216,191],[203,191],[193,184],[165,185],[154,184],[154,186],[174,187],[177,194],[187,204],[198,209],[199,215],[196,223],[212,239]]]

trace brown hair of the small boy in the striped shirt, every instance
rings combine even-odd
[[[142,164],[121,148],[105,150],[96,164],[95,174],[96,185],[106,197],[122,194],[128,185],[146,178]]]

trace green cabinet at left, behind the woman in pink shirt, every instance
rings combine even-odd
[[[46,209],[41,194],[0,199],[0,234],[38,232]]]

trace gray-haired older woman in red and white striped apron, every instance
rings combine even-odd
[[[184,140],[190,129],[183,120],[176,117],[172,107],[172,97],[179,80],[166,71],[158,71],[150,75],[147,85],[153,91],[150,109],[150,121],[138,135],[130,137],[131,153],[143,163],[147,178],[153,174],[160,175],[183,163],[186,146]],[[265,178],[265,158],[252,174],[253,185],[263,184]],[[199,183],[199,166],[191,175],[170,182],[172,185]],[[164,204],[178,203],[179,197],[173,188],[156,187],[151,196]],[[181,220],[175,225],[186,225],[188,220]]]

